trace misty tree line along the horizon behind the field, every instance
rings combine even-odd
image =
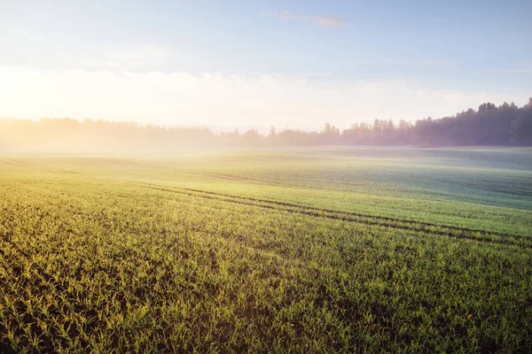
[[[415,123],[375,119],[347,129],[325,124],[322,131],[306,132],[271,127],[215,133],[208,127],[140,126],[103,119],[0,119],[2,150],[146,150],[184,146],[532,146],[532,97],[528,104],[481,104],[450,117],[418,119]]]

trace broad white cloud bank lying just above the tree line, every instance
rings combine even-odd
[[[441,117],[528,92],[462,92],[417,81],[315,80],[274,73],[113,73],[0,66],[0,117],[137,120],[164,125],[321,128]]]

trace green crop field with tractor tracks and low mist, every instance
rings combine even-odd
[[[532,150],[1,156],[0,284],[5,352],[531,352]]]

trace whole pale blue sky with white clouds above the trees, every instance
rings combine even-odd
[[[532,96],[532,1],[0,0],[0,117],[350,127]]]

